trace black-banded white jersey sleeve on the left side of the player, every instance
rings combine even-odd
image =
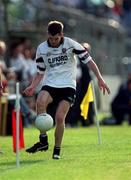
[[[44,74],[44,72],[46,70],[46,66],[44,63],[44,59],[41,56],[39,47],[37,48],[37,51],[36,51],[35,62],[36,62],[37,72],[40,74]]]

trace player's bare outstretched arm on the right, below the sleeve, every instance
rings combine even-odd
[[[105,94],[105,91],[107,91],[108,94],[110,94],[110,89],[109,87],[106,85],[98,66],[96,65],[96,63],[92,60],[89,60],[87,62],[88,67],[94,72],[95,76],[98,79],[98,85],[100,87],[100,89],[103,91],[103,94]]]

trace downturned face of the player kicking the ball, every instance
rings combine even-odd
[[[63,37],[63,34],[56,34],[52,36],[51,34],[48,34],[48,40],[52,47],[58,47],[61,42],[61,38]]]

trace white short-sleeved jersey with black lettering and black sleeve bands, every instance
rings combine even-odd
[[[38,73],[45,73],[42,85],[76,89],[75,55],[85,64],[92,59],[81,44],[68,37],[57,48],[50,47],[48,41],[41,43],[36,52],[36,65]]]

